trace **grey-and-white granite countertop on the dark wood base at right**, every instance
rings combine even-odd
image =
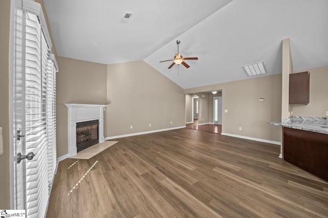
[[[316,133],[328,134],[328,123],[325,117],[292,117],[281,122],[268,122],[271,125],[296,128]]]

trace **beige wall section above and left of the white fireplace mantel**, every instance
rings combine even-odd
[[[57,62],[57,157],[61,157],[68,153],[65,103],[107,104],[107,66],[60,56]]]

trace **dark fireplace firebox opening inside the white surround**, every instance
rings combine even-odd
[[[99,143],[99,120],[76,123],[77,152]]]

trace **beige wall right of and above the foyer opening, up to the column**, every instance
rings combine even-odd
[[[222,133],[280,142],[281,74],[186,89],[199,93],[222,90]],[[259,102],[264,98],[264,102]],[[224,113],[224,110],[228,113]],[[242,127],[242,130],[239,130]]]

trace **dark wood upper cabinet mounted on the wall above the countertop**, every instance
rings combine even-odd
[[[293,73],[289,75],[289,104],[309,104],[310,73]]]

